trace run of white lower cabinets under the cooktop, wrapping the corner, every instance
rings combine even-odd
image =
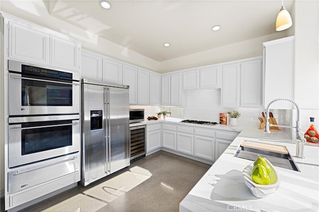
[[[161,129],[161,130],[160,130]],[[160,133],[161,132],[161,133]],[[160,147],[212,164],[228,148],[239,132],[174,123],[147,125],[147,153]]]

